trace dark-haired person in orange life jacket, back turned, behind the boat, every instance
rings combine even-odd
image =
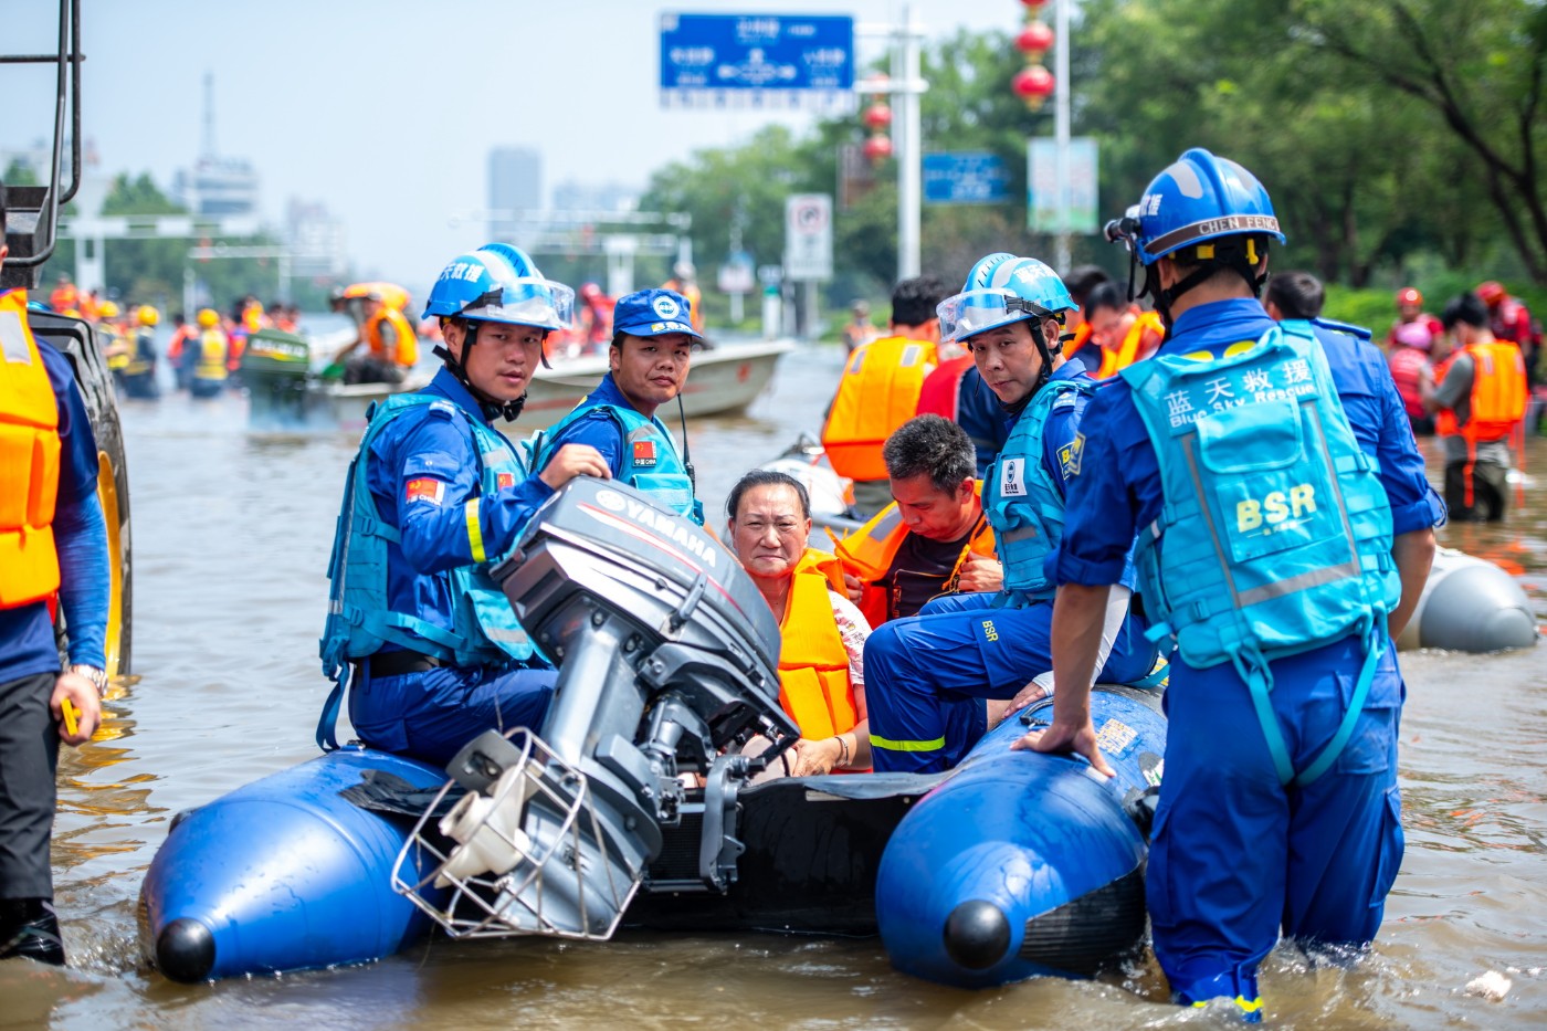
[[[925,378],[939,365],[945,283],[917,276],[891,293],[890,333],[849,355],[828,407],[821,444],[840,477],[854,480],[854,508],[871,519],[891,500],[882,446],[919,409]]]

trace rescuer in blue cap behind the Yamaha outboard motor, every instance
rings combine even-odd
[[[670,289],[640,289],[619,299],[608,373],[543,435],[532,468],[545,469],[565,444],[589,444],[614,478],[702,526],[704,503],[693,497],[693,466],[678,455],[671,432],[656,418],[656,410],[687,384],[693,347],[702,339],[692,316],[687,297]],[[685,447],[687,429],[682,432]]]

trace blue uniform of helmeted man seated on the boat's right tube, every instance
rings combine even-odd
[[[1077,381],[1088,384],[1089,378],[1080,365],[1066,362],[1049,376],[1043,392]],[[1027,404],[1021,420],[1033,412],[1043,392]],[[1033,498],[1038,483],[1049,485],[1049,497],[1041,503],[1061,508],[1064,485],[1086,461],[1077,450],[1077,430],[1088,402],[1083,390],[1060,390],[1041,441],[1029,441],[1026,452],[1015,455],[1012,430],[999,466],[989,475],[1002,478],[1006,461],[1016,463],[1009,466],[1012,483],[1030,489]],[[1030,469],[1030,463],[1040,463],[1041,472]],[[989,494],[985,483],[985,506]],[[1002,540],[998,526],[995,531]],[[1054,548],[1057,540],[1043,551]],[[1001,560],[1010,557],[1004,543],[998,550]],[[1035,565],[1036,570],[1019,570],[1018,576],[1007,562],[1006,582],[1044,579],[1044,563]],[[917,616],[877,627],[865,641],[865,704],[876,769],[934,772],[956,765],[985,729],[979,700],[1013,698],[1027,681],[1054,667],[1052,610],[1050,593],[954,594],[931,601]],[[1156,649],[1143,632],[1143,622],[1129,615],[1097,680],[1137,683],[1149,673]]]

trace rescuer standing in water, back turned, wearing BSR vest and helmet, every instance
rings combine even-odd
[[[1183,1005],[1259,1020],[1284,935],[1363,947],[1402,862],[1391,644],[1443,505],[1378,350],[1275,322],[1258,302],[1282,241],[1262,186],[1188,150],[1108,226],[1170,333],[1097,392],[1054,571],[1052,726],[1018,746],[1106,772],[1089,670],[1108,587],[1139,533],[1154,635],[1176,635],[1148,899]]]

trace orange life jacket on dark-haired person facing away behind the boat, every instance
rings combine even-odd
[[[924,379],[939,364],[930,341],[886,336],[849,355],[832,398],[821,446],[832,471],[849,480],[885,480],[882,444],[919,410]]]

